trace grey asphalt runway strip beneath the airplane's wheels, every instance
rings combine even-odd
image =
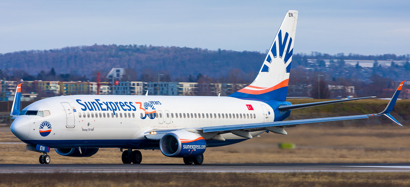
[[[292,173],[292,172],[409,172],[410,164],[2,164],[1,173]]]

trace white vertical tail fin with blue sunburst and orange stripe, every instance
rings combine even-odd
[[[287,11],[255,80],[229,96],[286,100],[297,20],[298,11]]]

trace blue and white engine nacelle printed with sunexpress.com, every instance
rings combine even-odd
[[[162,136],[159,149],[168,157],[196,157],[205,152],[205,139],[199,134],[187,131],[171,131]]]

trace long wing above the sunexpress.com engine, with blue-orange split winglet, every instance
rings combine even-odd
[[[251,123],[251,124],[240,124],[240,125],[222,125],[222,126],[212,126],[212,127],[199,127],[199,128],[185,128],[179,130],[186,130],[192,131],[199,134],[214,134],[214,136],[218,134],[225,134],[225,133],[232,133],[237,136],[241,136],[244,138],[252,138],[249,132],[253,131],[273,131],[278,134],[287,134],[283,128],[286,127],[294,127],[296,125],[301,124],[309,124],[309,123],[317,123],[317,122],[329,122],[329,121],[340,121],[340,120],[354,120],[354,119],[364,119],[369,118],[372,116],[387,116],[389,119],[396,122],[398,125],[401,125],[396,119],[393,118],[392,115],[389,113],[393,111],[394,105],[396,104],[396,100],[399,97],[401,87],[403,87],[404,81],[400,83],[399,87],[397,88],[396,92],[394,93],[393,97],[390,99],[389,104],[382,112],[378,114],[364,114],[364,115],[356,115],[356,116],[340,116],[340,117],[330,117],[330,118],[313,118],[313,119],[303,119],[303,120],[289,120],[289,121],[275,121],[275,122],[263,122],[263,123]],[[154,137],[150,135],[155,135],[155,139],[159,140],[163,134],[168,133],[169,131],[173,131],[175,129],[170,130],[152,130],[146,132],[146,137]],[[159,139],[158,139],[159,138]]]

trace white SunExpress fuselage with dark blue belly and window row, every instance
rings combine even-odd
[[[35,115],[35,111],[43,111],[43,117],[39,112]],[[50,115],[45,116],[48,111]],[[27,115],[29,113],[32,115]],[[152,145],[146,145],[144,133],[153,129],[249,124],[273,119],[273,109],[265,102],[233,97],[75,95],[34,102],[23,109],[12,128],[19,129],[16,136],[27,144],[49,147],[130,145],[152,149]],[[40,131],[45,132],[40,134]],[[262,132],[251,134],[257,136]],[[235,143],[229,140],[246,139],[230,133],[222,136],[227,139],[226,145]],[[224,144],[218,142],[216,146],[220,145]]]

